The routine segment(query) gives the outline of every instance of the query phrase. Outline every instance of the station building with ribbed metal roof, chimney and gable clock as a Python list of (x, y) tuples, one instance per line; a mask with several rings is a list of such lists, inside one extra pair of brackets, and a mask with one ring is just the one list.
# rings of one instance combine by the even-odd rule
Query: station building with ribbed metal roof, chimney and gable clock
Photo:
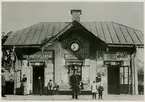
[(40, 22), (10, 34), (3, 47), (15, 46), (15, 93), (23, 74), (28, 94), (36, 93), (38, 76), (44, 94), (50, 79), (60, 91), (68, 91), (76, 70), (82, 91), (90, 91), (90, 84), (101, 75), (106, 94), (138, 94), (136, 60), (144, 47), (143, 33), (115, 22), (81, 22), (81, 13), (71, 10), (72, 22)]

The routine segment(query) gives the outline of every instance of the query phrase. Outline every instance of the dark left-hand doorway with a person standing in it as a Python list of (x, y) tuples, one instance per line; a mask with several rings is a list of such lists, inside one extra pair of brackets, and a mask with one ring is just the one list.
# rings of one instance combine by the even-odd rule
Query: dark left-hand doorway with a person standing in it
[(44, 89), (44, 66), (33, 66), (33, 94), (38, 94), (38, 77), (41, 77)]

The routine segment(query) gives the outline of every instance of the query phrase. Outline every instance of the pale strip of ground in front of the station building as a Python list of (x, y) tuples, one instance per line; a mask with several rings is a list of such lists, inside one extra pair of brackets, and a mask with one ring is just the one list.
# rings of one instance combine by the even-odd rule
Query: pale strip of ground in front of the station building
[[(70, 100), (71, 95), (6, 95), (2, 100)], [(80, 95), (79, 100), (91, 100), (91, 95)], [(98, 99), (96, 99), (98, 100)], [(144, 95), (104, 95), (103, 100), (136, 100), (143, 101)]]

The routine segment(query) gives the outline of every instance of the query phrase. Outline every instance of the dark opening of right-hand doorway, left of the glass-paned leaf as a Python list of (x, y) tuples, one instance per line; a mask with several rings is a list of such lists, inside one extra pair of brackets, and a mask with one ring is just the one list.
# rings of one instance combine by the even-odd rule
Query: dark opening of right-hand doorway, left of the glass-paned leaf
[(119, 66), (108, 67), (108, 93), (119, 94)]

